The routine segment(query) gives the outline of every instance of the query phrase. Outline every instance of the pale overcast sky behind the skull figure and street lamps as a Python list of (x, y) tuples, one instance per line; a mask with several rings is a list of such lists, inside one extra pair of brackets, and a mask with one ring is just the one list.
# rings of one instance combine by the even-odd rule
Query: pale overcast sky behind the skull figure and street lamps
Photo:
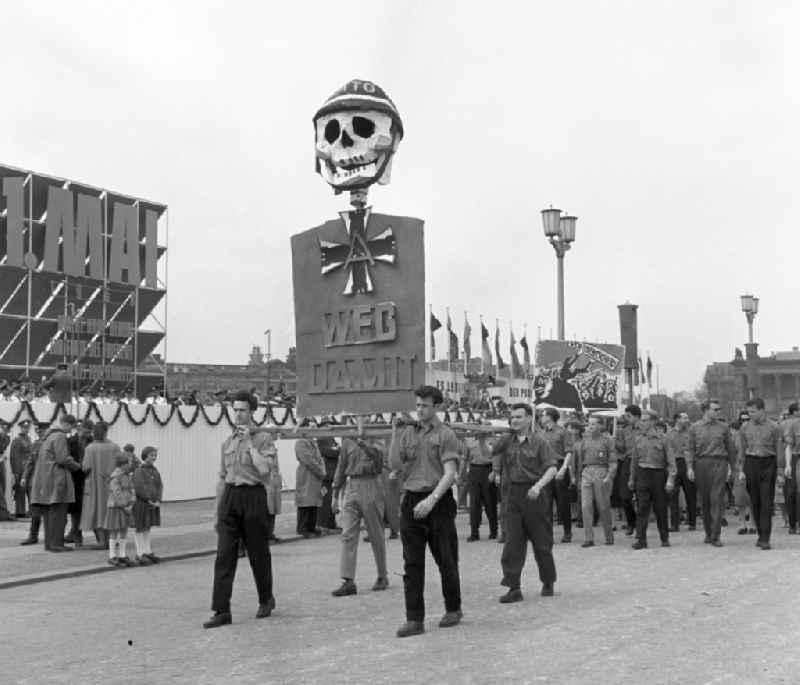
[[(794, 5), (794, 6), (793, 6)], [(0, 162), (170, 208), (168, 356), (293, 344), (289, 238), (346, 207), (311, 117), (351, 78), (405, 139), (375, 211), (425, 220), (427, 291), (556, 329), (540, 210), (576, 214), (568, 337), (639, 341), (662, 388), (746, 339), (800, 344), (800, 7), (791, 2), (98, 2), (2, 5)], [(440, 333), (444, 349), (444, 334)]]

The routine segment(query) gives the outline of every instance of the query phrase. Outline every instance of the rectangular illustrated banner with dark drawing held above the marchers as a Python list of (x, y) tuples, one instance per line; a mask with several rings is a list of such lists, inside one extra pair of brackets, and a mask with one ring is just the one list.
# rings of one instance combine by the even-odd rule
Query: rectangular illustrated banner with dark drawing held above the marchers
[(622, 397), (622, 345), (541, 340), (536, 345), (534, 403), (586, 411), (617, 409)]

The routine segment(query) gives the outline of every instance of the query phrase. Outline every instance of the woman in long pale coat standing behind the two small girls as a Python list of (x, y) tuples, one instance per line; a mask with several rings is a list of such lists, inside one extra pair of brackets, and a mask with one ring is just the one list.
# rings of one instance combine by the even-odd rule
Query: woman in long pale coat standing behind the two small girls
[(81, 530), (92, 530), (97, 538), (98, 549), (108, 549), (108, 533), (105, 530), (108, 507), (108, 487), (111, 474), (116, 468), (117, 454), (122, 450), (107, 439), (108, 424), (98, 421), (92, 428), (93, 442), (83, 455), (83, 471), (86, 482), (83, 491)]

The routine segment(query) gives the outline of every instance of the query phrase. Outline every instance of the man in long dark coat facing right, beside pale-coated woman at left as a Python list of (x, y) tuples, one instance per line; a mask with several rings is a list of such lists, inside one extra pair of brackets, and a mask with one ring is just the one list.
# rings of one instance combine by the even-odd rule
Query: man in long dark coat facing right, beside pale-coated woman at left
[(70, 471), (81, 466), (69, 454), (67, 435), (74, 429), (75, 417), (62, 414), (58, 425), (45, 435), (33, 472), (31, 503), (42, 509), (44, 548), (49, 552), (71, 551), (64, 546), (67, 506), (75, 501), (75, 486)]

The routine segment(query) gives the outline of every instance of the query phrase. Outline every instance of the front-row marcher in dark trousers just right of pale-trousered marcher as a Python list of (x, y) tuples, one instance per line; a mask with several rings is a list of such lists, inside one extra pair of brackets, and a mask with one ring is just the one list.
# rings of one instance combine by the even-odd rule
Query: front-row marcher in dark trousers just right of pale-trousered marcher
[(675, 455), (665, 435), (656, 429), (658, 412), (648, 409), (639, 422), (640, 434), (631, 455), (628, 487), (636, 492), (636, 542), (633, 549), (647, 548), (650, 508), (655, 512), (661, 546), (669, 547), (667, 497), (675, 489)]

